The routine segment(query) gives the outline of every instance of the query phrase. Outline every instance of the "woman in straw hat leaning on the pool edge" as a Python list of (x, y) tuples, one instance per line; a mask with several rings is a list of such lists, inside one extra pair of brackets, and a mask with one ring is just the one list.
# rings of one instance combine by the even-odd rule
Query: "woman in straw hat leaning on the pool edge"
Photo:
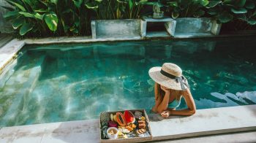
[[(187, 79), (182, 75), (182, 70), (174, 63), (164, 63), (162, 67), (153, 67), (148, 71), (154, 80), (154, 95), (156, 104), (153, 112), (158, 112), (162, 117), (170, 115), (194, 115), (195, 101), (190, 93)], [(187, 109), (176, 110), (183, 97)]]

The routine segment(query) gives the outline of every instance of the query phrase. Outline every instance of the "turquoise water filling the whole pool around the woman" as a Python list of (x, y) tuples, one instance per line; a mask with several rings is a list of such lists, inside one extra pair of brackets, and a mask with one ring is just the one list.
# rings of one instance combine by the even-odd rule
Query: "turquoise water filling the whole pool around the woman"
[(255, 37), (29, 45), (1, 75), (0, 126), (148, 111), (154, 104), (148, 69), (165, 62), (184, 70), (197, 109), (255, 104), (255, 47)]

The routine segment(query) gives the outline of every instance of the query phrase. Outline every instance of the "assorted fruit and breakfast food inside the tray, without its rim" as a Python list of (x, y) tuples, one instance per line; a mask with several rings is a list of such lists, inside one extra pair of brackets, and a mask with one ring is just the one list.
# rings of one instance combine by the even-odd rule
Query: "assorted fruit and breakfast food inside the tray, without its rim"
[[(102, 115), (104, 118), (102, 119)], [(102, 122), (106, 122), (101, 126), (102, 136), (104, 139), (130, 139), (134, 137), (150, 136), (146, 122), (146, 116), (143, 112), (131, 112), (125, 110), (124, 112), (112, 112), (112, 114), (102, 114)], [(105, 131), (103, 130), (105, 128)], [(108, 130), (107, 130), (108, 128)]]

